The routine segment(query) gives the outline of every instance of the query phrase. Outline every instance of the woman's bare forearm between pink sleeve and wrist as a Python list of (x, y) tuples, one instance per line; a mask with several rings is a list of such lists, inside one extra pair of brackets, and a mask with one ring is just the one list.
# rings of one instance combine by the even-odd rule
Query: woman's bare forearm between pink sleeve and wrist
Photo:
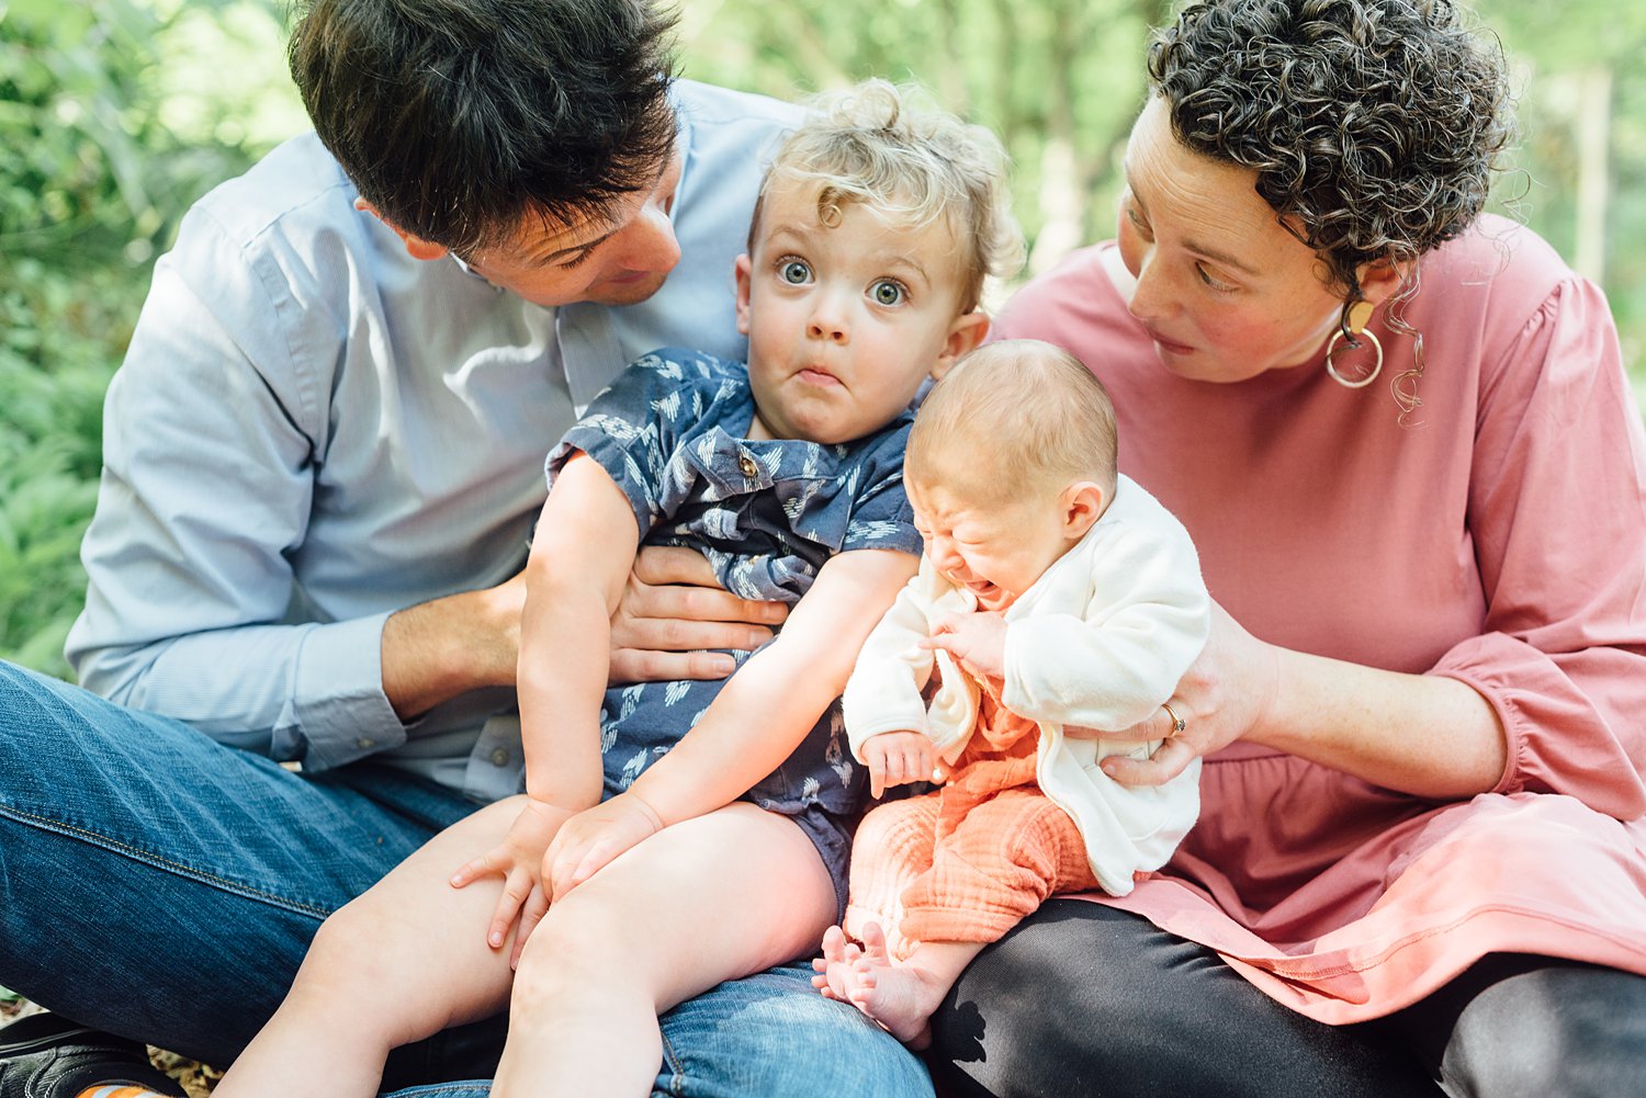
[(1246, 739), (1419, 797), (1472, 797), (1503, 777), (1503, 724), (1467, 683), (1274, 652), (1274, 696)]

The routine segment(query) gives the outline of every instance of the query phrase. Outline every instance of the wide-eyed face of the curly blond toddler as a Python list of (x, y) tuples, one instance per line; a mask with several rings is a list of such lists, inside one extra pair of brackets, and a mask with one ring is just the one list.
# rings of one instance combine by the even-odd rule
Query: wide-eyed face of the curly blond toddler
[(846, 443), (890, 423), (981, 336), (960, 314), (961, 249), (946, 224), (889, 224), (861, 202), (818, 221), (815, 186), (774, 186), (737, 260), (749, 336), (751, 438)]

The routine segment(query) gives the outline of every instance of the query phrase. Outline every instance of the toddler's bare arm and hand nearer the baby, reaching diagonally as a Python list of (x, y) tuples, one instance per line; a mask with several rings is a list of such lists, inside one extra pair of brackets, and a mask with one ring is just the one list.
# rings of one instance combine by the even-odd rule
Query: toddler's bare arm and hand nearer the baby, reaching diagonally
[(864, 639), (914, 571), (914, 556), (889, 550), (831, 556), (777, 640), (731, 677), (696, 728), (627, 792), (561, 828), (548, 859), (553, 896), (775, 770), (839, 696)]

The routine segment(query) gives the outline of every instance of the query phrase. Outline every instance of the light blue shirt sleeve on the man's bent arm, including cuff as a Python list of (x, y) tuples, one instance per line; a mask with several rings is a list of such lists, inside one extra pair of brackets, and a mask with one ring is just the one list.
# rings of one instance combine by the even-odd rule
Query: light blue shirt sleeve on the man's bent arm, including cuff
[(291, 369), (270, 286), (204, 214), (191, 219), (105, 400), (67, 657), (114, 701), (309, 769), (398, 746), (387, 614), (281, 624), (321, 395)]

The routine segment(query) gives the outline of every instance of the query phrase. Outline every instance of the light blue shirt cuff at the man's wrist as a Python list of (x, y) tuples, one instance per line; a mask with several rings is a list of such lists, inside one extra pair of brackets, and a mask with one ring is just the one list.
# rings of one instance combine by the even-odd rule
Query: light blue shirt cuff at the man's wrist
[(308, 630), (298, 650), (296, 721), (275, 729), (277, 759), (326, 770), (405, 742), (405, 724), (384, 693), (387, 621), (374, 614)]

